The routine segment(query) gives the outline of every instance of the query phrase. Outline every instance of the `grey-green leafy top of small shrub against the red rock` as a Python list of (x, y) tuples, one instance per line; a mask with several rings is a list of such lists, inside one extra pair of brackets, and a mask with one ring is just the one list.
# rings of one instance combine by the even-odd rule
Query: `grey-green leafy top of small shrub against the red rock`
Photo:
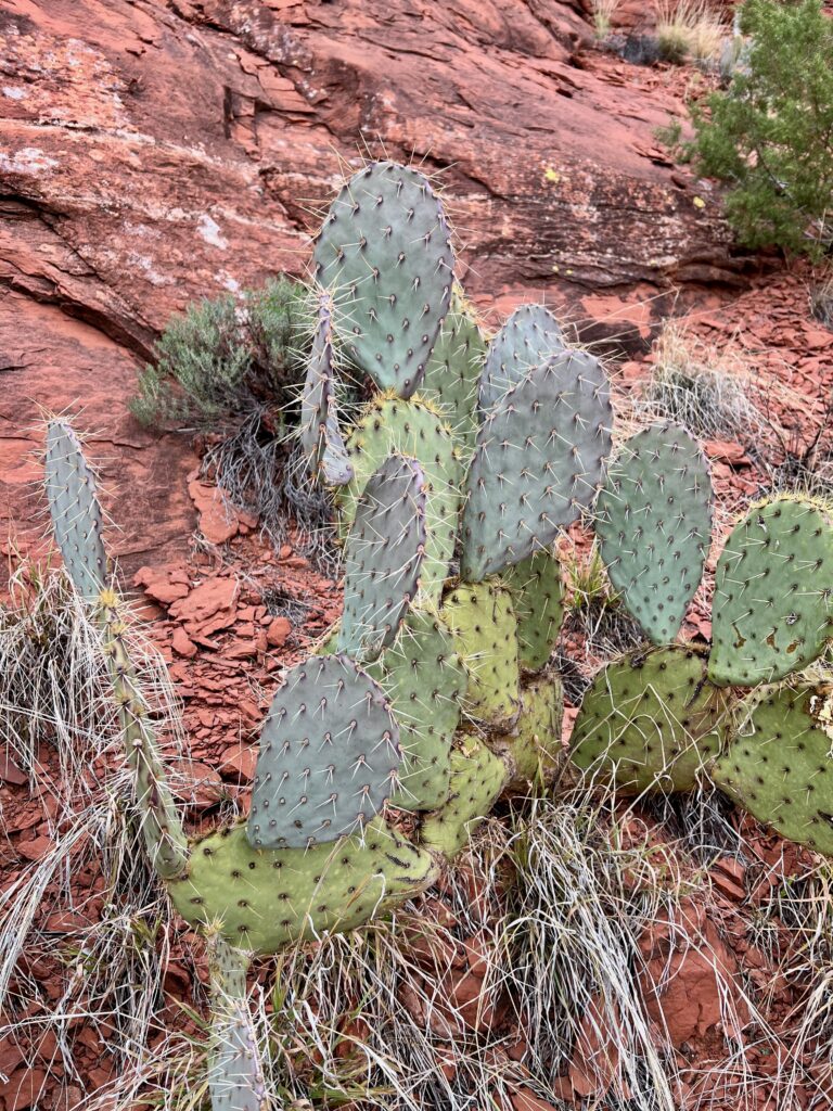
[(247, 294), (225, 294), (174, 317), (139, 378), (130, 411), (142, 424), (212, 428), (269, 400), (291, 399), (303, 373), (307, 290), (289, 278)]

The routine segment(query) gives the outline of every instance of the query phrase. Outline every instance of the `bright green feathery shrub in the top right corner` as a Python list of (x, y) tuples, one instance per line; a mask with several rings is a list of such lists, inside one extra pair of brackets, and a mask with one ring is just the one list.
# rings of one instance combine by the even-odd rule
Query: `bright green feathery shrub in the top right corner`
[[(701, 172), (731, 182), (726, 216), (746, 247), (822, 253), (833, 198), (833, 20), (821, 0), (746, 0), (747, 64), (695, 110)], [(826, 239), (826, 244), (825, 244)]]

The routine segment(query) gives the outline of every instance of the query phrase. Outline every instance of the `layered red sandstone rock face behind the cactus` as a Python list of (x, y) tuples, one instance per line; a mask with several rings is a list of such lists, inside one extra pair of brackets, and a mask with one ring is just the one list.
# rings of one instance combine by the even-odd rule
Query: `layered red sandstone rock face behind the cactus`
[[(0, 12), (0, 543), (39, 529), (39, 407), (78, 413), (128, 570), (188, 542), (182, 437), (127, 412), (170, 316), (301, 273), (369, 152), (436, 172), (462, 277), (574, 318), (735, 283), (715, 198), (656, 150), (682, 106), (556, 0), (10, 0)], [(659, 297), (659, 300), (658, 300)]]

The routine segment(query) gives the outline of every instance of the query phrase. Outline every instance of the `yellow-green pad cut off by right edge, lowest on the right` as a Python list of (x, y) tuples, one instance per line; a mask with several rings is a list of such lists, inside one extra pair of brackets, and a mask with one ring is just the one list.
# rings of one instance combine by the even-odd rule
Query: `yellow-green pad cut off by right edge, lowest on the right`
[(825, 697), (801, 687), (753, 698), (712, 778), (782, 837), (833, 857), (833, 737), (817, 719)]

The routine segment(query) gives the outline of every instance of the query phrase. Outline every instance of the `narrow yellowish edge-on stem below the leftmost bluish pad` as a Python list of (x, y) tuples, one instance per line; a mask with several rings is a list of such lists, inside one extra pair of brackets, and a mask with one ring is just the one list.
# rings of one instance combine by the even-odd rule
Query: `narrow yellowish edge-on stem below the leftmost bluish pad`
[(159, 755), (148, 704), (139, 689), (136, 669), (124, 643), (126, 627), (114, 590), (99, 594), (98, 621), (104, 634), (113, 695), (124, 751), (133, 771), (136, 800), (142, 815), (148, 855), (163, 880), (181, 875), (188, 863), (188, 839)]

